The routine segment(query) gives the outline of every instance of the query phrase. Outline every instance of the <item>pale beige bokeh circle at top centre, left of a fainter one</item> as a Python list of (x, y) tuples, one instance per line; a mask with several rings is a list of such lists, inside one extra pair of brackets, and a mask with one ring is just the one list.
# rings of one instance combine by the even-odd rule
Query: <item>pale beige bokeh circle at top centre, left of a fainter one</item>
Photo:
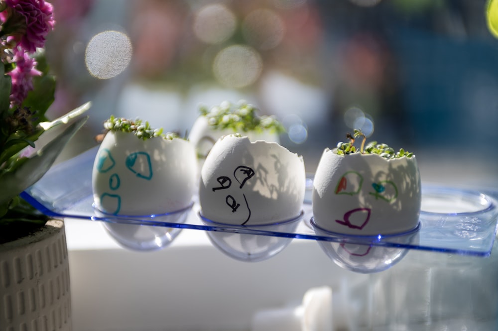
[(208, 4), (194, 18), (194, 33), (201, 41), (219, 44), (230, 38), (235, 31), (237, 19), (235, 14), (220, 3)]

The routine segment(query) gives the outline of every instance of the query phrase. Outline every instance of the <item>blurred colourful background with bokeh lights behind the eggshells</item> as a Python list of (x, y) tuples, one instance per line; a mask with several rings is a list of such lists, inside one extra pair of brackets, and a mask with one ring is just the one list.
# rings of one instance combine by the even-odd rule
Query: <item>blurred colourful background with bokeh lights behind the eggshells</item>
[(353, 128), (417, 155), (422, 180), (498, 184), (498, 39), (486, 0), (53, 0), (53, 117), (92, 101), (188, 132), (199, 105), (274, 114), (313, 173)]

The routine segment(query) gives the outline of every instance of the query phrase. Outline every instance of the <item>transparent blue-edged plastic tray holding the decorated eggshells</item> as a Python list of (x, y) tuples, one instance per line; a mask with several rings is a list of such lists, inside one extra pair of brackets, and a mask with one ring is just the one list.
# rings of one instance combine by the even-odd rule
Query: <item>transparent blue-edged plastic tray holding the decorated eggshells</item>
[(175, 217), (177, 213), (144, 217), (103, 215), (93, 208), (92, 167), (96, 153), (97, 147), (52, 167), (40, 181), (23, 192), (22, 197), (42, 213), (54, 218), (357, 243), (475, 256), (488, 256), (496, 236), (498, 192), (424, 183), (420, 222), (414, 230), (416, 236), (413, 231), (403, 235), (345, 236), (316, 229), (312, 225), (310, 201), (312, 179), (308, 179), (303, 214), (289, 221), (292, 226), (288, 227), (219, 224), (203, 219), (196, 201), (187, 210), (178, 211), (182, 215), (186, 214), (183, 218)]

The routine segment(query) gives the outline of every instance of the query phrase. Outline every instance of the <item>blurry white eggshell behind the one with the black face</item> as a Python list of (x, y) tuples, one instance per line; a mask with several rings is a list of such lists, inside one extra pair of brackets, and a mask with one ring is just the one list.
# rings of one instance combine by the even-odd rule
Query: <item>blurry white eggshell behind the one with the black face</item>
[[(216, 143), (216, 141), (226, 135), (237, 133), (233, 129), (214, 129), (208, 123), (206, 116), (197, 117), (192, 129), (189, 133), (189, 141), (195, 146), (197, 151), (197, 156), (199, 157), (198, 169), (202, 169), (202, 165), (206, 156), (209, 154), (211, 148)], [(250, 141), (264, 140), (268, 142), (279, 143), (278, 134), (272, 132), (271, 130), (263, 131), (248, 131), (248, 132), (238, 132), (241, 135), (248, 136)]]

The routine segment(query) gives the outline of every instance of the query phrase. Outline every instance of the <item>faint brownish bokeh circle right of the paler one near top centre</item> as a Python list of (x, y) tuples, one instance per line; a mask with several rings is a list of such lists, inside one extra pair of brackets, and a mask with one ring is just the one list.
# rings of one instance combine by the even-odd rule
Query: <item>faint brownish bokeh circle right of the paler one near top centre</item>
[(261, 50), (278, 46), (285, 31), (280, 16), (270, 9), (251, 11), (244, 19), (242, 28), (248, 43)]

